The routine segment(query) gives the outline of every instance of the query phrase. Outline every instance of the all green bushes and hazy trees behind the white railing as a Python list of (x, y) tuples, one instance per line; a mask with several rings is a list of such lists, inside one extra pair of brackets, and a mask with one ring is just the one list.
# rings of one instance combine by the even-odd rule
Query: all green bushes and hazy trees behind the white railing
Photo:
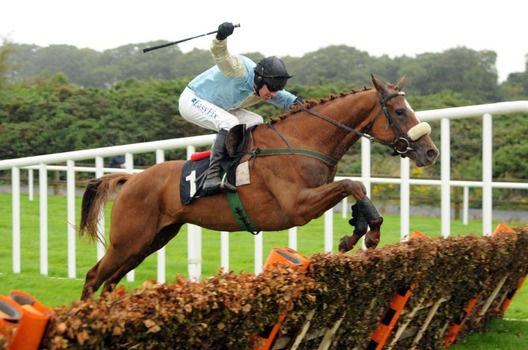
[[(141, 48), (159, 44), (130, 44), (98, 52), (73, 46), (4, 42), (0, 46), (0, 159), (65, 152), (210, 133), (184, 121), (178, 98), (188, 81), (213, 64), (208, 51), (182, 53), (178, 47), (143, 54)], [(247, 53), (254, 60), (260, 53)], [(374, 57), (347, 46), (329, 46), (303, 57), (284, 57), (294, 78), (288, 89), (305, 98), (322, 98), (370, 86), (369, 76), (395, 82), (406, 75), (409, 102), (415, 110), (528, 99), (528, 69), (498, 83), (496, 54), (464, 47), (416, 57)], [(527, 64), (528, 66), (528, 64)], [(269, 104), (253, 108), (266, 118), (280, 110)], [(439, 124), (433, 123), (439, 142)], [(478, 119), (451, 122), (452, 178), (481, 178), (481, 123)], [(494, 116), (495, 180), (526, 180), (528, 153), (526, 115)], [(359, 174), (359, 145), (339, 164), (343, 175)], [(373, 146), (373, 176), (397, 176), (399, 160)], [(172, 152), (168, 159), (181, 158)], [(152, 157), (150, 157), (152, 158)], [(153, 163), (148, 155), (136, 166)], [(440, 167), (412, 168), (413, 177), (439, 176)], [(374, 191), (387, 195), (391, 186)], [(453, 190), (458, 198), (458, 189)], [(438, 194), (424, 190), (415, 200)], [(421, 195), (421, 196), (420, 196)], [(526, 191), (500, 190), (496, 203), (507, 199), (528, 208)]]

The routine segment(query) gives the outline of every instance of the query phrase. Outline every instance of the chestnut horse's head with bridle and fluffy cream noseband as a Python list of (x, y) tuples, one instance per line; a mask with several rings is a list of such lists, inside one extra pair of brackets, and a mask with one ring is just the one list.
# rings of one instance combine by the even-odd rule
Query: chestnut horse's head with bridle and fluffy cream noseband
[(371, 127), (372, 137), (390, 146), (394, 155), (409, 157), (417, 166), (433, 164), (438, 157), (438, 148), (431, 140), (431, 127), (420, 122), (402, 88), (405, 78), (398, 84), (386, 84), (374, 76), (372, 83), (378, 91), (383, 115), (378, 115)]

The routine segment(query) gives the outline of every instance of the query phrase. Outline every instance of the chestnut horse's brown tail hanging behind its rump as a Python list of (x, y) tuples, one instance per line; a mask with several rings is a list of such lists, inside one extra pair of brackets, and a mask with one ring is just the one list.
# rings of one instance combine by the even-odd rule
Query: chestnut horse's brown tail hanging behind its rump
[(92, 239), (97, 239), (97, 222), (99, 212), (104, 204), (116, 190), (117, 186), (124, 184), (132, 174), (109, 174), (88, 182), (84, 191), (81, 209), (81, 224), (79, 234), (87, 234)]

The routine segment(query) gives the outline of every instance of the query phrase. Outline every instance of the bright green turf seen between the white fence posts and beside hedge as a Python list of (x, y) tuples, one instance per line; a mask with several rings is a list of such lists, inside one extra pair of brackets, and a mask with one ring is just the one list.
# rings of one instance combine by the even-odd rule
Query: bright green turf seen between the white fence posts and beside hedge
[[(108, 206), (109, 207), (109, 206)], [(78, 198), (77, 208), (80, 208)], [(105, 224), (110, 221), (109, 209), (106, 210)], [(12, 272), (12, 236), (11, 236), (11, 195), (0, 194), (0, 294), (21, 289), (49, 306), (70, 304), (79, 298), (86, 271), (96, 263), (95, 244), (87, 239), (76, 242), (76, 279), (67, 277), (67, 224), (66, 199), (64, 196), (48, 197), (48, 276), (42, 276), (39, 268), (39, 202), (38, 197), (29, 201), (21, 196), (21, 269), (22, 273)], [(399, 241), (399, 216), (384, 215), (381, 245)], [(77, 221), (79, 216), (77, 214)], [(495, 225), (498, 223), (494, 223)], [(519, 226), (526, 223), (508, 223)], [(438, 237), (440, 219), (434, 217), (412, 217), (411, 230), (422, 231), (432, 237)], [(350, 234), (352, 228), (341, 214), (334, 216), (334, 250), (339, 238)], [(309, 225), (298, 228), (298, 251), (310, 256), (324, 250), (324, 219), (319, 218)], [(481, 235), (481, 221), (471, 221), (467, 226), (460, 221), (451, 224), (453, 235)], [(247, 232), (234, 232), (229, 236), (230, 270), (235, 272), (253, 272), (253, 236)], [(274, 247), (287, 246), (287, 231), (264, 233), (264, 259)], [(357, 249), (357, 248), (356, 248)], [(167, 281), (176, 276), (187, 275), (187, 228), (166, 246)], [(156, 254), (147, 258), (135, 270), (135, 282), (122, 281), (127, 289), (133, 289), (146, 279), (156, 277)], [(220, 267), (220, 234), (209, 230), (202, 233), (202, 276), (210, 276)], [(454, 349), (528, 349), (528, 291), (521, 289), (508, 309), (505, 319), (490, 322), (485, 333), (472, 334)], [(514, 320), (508, 320), (514, 319)], [(511, 339), (505, 340), (505, 338)], [(503, 344), (507, 342), (507, 344)], [(524, 347), (523, 347), (524, 346)]]

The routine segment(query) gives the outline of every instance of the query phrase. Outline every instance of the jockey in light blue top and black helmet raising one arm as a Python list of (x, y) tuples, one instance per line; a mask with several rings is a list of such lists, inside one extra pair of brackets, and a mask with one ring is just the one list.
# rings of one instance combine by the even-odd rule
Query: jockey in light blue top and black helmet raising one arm
[(263, 123), (260, 115), (246, 107), (266, 101), (286, 110), (303, 102), (301, 97), (284, 90), (292, 76), (279, 58), (267, 57), (255, 65), (245, 56), (228, 52), (226, 38), (233, 30), (234, 25), (229, 22), (218, 26), (211, 44), (216, 65), (194, 78), (179, 100), (180, 114), (185, 120), (218, 132), (203, 186), (206, 194), (220, 189), (236, 191), (235, 186), (220, 178), (220, 161), (227, 153), (224, 141), (229, 129), (237, 124), (250, 127)]

